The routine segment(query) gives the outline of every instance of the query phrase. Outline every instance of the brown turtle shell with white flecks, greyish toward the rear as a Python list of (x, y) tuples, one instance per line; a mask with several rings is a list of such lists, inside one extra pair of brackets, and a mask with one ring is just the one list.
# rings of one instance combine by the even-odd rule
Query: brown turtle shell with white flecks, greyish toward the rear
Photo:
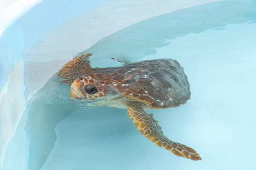
[(190, 99), (188, 78), (183, 67), (173, 59), (91, 68), (86, 74), (105, 86), (118, 89), (126, 98), (147, 104), (152, 109), (177, 107)]

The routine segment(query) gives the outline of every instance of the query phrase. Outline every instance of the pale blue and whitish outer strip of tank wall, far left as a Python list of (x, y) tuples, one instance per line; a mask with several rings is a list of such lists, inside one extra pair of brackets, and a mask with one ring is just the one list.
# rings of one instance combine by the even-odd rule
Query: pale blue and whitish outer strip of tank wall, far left
[[(100, 2), (102, 1), (89, 0), (71, 3), (66, 0), (58, 4), (58, 2), (45, 0), (13, 21), (2, 33), (0, 37), (1, 166), (6, 145), (16, 129), (18, 119), (26, 106), (24, 95), (26, 88), (26, 84), (24, 84), (24, 53), (50, 29), (79, 12), (96, 6)], [(18, 5), (21, 4), (18, 3)], [(59, 9), (58, 12), (56, 12), (56, 9)], [(33, 71), (37, 72), (36, 70)], [(46, 73), (46, 76), (50, 77), (51, 75)]]

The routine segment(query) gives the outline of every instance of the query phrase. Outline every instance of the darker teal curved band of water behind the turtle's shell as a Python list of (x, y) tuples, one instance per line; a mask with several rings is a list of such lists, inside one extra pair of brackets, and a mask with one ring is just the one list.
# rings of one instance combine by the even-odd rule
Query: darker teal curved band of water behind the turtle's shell
[(155, 54), (157, 48), (170, 45), (171, 40), (178, 37), (208, 29), (225, 29), (226, 25), (233, 23), (253, 23), (256, 21), (255, 6), (253, 0), (238, 0), (177, 10), (126, 27), (78, 55), (93, 53), (92, 62), (96, 66), (106, 66), (104, 62), (97, 62), (99, 58), (108, 60), (114, 57), (122, 60), (122, 57), (126, 57), (138, 61), (144, 56)]

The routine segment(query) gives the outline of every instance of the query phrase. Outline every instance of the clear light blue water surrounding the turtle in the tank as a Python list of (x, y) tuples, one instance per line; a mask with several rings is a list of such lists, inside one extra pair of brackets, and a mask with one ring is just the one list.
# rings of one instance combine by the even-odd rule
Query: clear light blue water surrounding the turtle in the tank
[(6, 160), (15, 155), (20, 167), (31, 170), (256, 169), (255, 7), (248, 0), (178, 10), (126, 27), (83, 52), (94, 54), (92, 66), (119, 64), (110, 57), (179, 61), (191, 99), (149, 112), (167, 137), (197, 150), (201, 161), (157, 147), (140, 135), (125, 109), (80, 106), (56, 75), (30, 100)]

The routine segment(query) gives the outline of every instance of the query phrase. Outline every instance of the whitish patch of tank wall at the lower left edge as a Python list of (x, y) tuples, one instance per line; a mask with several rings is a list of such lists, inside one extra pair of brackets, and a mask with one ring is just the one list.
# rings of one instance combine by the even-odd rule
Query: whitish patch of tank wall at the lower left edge
[[(0, 167), (3, 169), (4, 156), (6, 147), (16, 131), (20, 117), (26, 108), (26, 102), (24, 97), (25, 85), (24, 85), (24, 63), (22, 60), (12, 68), (4, 86), (0, 90), (0, 119), (3, 121), (0, 123), (0, 129), (5, 129), (2, 132), (3, 143), (0, 150)], [(16, 76), (19, 75), (19, 76)], [(18, 79), (17, 79), (18, 77)], [(10, 108), (8, 105), (10, 102), (15, 101), (16, 107)], [(15, 112), (16, 114), (11, 114)], [(12, 123), (9, 123), (12, 122)]]

